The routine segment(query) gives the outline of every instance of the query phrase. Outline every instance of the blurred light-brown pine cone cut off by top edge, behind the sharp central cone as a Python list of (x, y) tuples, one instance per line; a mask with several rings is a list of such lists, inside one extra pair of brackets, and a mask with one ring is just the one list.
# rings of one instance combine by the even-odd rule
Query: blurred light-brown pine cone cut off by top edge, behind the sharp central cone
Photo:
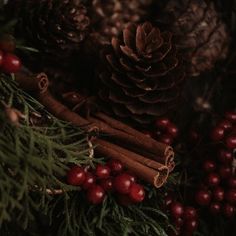
[(101, 44), (109, 43), (129, 22), (142, 21), (151, 1), (92, 0), (90, 15), (95, 29), (92, 36)]

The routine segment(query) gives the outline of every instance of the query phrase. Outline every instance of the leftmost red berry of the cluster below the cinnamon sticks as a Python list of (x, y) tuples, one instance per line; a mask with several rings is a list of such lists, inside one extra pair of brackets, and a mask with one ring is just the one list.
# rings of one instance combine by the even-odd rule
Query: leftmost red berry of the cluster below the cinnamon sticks
[(84, 169), (80, 166), (72, 167), (67, 173), (67, 183), (70, 185), (80, 186), (85, 181)]

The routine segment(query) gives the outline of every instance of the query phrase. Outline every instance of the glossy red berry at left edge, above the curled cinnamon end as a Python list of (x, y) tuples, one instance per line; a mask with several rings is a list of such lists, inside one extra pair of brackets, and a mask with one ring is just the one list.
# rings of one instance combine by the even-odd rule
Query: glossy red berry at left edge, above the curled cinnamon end
[(14, 54), (7, 53), (3, 57), (1, 69), (5, 73), (16, 73), (21, 68), (20, 59)]

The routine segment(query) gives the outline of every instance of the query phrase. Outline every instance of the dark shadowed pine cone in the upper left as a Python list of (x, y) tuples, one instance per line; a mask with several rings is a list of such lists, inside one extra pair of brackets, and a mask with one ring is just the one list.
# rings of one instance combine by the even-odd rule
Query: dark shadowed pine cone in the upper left
[(9, 0), (19, 35), (51, 58), (69, 56), (88, 34), (90, 19), (79, 0)]

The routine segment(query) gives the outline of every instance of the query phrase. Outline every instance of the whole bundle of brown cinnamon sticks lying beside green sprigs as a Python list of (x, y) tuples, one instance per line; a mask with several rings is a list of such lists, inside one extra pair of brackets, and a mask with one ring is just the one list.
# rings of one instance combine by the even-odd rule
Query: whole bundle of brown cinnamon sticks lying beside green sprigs
[(49, 92), (47, 75), (16, 74), (20, 87), (31, 92), (45, 108), (59, 119), (80, 126), (86, 132), (99, 130), (92, 139), (95, 153), (121, 161), (127, 169), (141, 179), (161, 187), (174, 169), (173, 149), (146, 136), (130, 126), (97, 112), (84, 118), (56, 100)]

